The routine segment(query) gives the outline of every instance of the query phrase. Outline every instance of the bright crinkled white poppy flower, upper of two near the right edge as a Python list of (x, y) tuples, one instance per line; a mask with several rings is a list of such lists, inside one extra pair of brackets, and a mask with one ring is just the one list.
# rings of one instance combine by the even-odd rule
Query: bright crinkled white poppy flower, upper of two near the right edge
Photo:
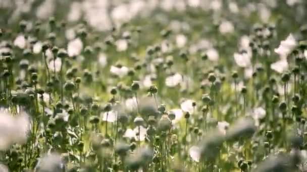
[(276, 48), (274, 51), (279, 54), (281, 58), (287, 58), (287, 56), (296, 47), (296, 45), (297, 42), (295, 38), (292, 34), (289, 34), (286, 40), (281, 41), (279, 47)]

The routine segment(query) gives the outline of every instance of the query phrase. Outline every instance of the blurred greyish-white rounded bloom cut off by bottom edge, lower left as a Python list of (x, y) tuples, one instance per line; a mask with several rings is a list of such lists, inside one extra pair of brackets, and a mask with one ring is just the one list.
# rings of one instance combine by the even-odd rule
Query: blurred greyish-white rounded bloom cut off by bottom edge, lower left
[(54, 171), (64, 171), (65, 164), (62, 161), (62, 157), (57, 153), (48, 153), (43, 157), (40, 157), (36, 166), (36, 172), (54, 172)]

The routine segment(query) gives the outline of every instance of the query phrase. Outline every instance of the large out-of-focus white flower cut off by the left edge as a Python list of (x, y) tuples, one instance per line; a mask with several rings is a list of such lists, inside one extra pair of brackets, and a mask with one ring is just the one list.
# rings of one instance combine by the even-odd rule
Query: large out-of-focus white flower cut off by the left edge
[(6, 111), (0, 111), (0, 150), (6, 150), (15, 143), (25, 143), (30, 125), (25, 112), (13, 117)]

